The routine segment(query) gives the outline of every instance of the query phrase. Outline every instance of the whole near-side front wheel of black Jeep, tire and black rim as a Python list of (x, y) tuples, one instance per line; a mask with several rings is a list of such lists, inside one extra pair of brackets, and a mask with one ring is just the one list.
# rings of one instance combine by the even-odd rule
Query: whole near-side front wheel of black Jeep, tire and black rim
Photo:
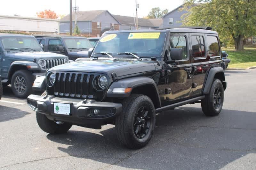
[(116, 118), (116, 132), (120, 144), (139, 149), (150, 141), (156, 123), (152, 100), (142, 94), (132, 94), (123, 102), (123, 112)]

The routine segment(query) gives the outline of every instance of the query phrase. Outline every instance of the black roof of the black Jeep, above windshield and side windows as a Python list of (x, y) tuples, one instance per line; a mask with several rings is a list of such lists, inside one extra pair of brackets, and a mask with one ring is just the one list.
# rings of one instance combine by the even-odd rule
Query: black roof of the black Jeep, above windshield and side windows
[(218, 34), (216, 31), (196, 28), (171, 28), (171, 29), (151, 29), (151, 30), (121, 30), (121, 31), (106, 31), (106, 33), (211, 33)]

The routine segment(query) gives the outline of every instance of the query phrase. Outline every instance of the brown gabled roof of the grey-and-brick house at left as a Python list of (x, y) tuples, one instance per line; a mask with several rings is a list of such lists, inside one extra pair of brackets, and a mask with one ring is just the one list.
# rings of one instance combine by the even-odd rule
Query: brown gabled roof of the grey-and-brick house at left
[[(76, 14), (76, 21), (93, 21), (95, 18), (97, 18), (103, 12), (108, 12), (108, 10), (79, 11)], [(111, 15), (110, 12), (108, 12), (108, 13)], [(72, 21), (74, 21), (74, 20), (75, 20), (75, 15), (72, 14)], [(69, 21), (69, 14), (60, 19), (60, 22), (68, 22), (68, 21)]]

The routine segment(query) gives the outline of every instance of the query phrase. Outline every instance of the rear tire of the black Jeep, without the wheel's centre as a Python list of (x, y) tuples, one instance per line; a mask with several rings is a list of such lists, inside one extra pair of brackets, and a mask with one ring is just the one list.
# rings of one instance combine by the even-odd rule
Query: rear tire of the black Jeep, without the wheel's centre
[[(220, 88), (221, 92), (221, 104), (218, 108), (214, 107), (214, 92), (216, 88)], [(214, 79), (212, 82), (212, 87), (210, 89), (209, 94), (205, 95), (205, 98), (201, 100), (201, 107), (206, 116), (217, 116), (220, 114), (220, 111), (223, 106), (224, 101), (224, 88), (220, 81), (220, 79)]]

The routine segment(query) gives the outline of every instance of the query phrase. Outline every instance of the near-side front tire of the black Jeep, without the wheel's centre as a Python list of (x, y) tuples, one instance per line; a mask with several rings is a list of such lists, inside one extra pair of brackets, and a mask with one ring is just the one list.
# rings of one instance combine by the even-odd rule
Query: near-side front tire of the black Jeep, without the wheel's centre
[[(122, 106), (123, 112), (116, 117), (115, 123), (117, 138), (120, 144), (131, 149), (139, 149), (146, 146), (153, 135), (156, 123), (155, 107), (152, 100), (146, 95), (132, 94), (124, 100)], [(148, 133), (146, 133), (144, 138), (138, 138), (134, 131), (134, 119), (141, 106), (147, 107), (152, 118), (152, 120), (150, 118), (152, 124), (150, 124)]]

